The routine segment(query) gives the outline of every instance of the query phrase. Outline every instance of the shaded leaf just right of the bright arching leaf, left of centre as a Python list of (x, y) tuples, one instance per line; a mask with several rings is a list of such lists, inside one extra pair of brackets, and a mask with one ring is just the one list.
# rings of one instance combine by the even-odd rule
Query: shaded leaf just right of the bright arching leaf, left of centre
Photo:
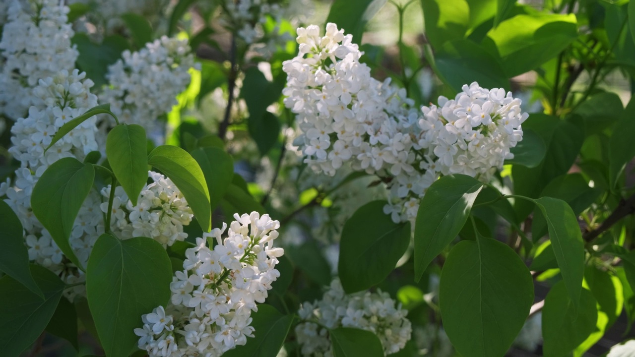
[(199, 163), (201, 170), (203, 170), (208, 191), (210, 191), (211, 209), (214, 210), (225, 196), (227, 187), (232, 183), (234, 160), (223, 149), (216, 147), (196, 149), (192, 151), (192, 158)]

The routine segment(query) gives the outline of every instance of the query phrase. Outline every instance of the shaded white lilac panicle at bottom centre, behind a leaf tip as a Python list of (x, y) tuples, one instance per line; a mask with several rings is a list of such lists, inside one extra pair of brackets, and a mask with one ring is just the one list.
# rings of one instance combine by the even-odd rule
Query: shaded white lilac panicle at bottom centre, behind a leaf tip
[(295, 328), (304, 356), (333, 356), (326, 328), (353, 327), (373, 332), (382, 342), (385, 354), (402, 349), (412, 333), (406, 318), (408, 311), (396, 306), (388, 293), (378, 290), (346, 295), (337, 279), (331, 282), (322, 300), (304, 302), (298, 314), (307, 321)]

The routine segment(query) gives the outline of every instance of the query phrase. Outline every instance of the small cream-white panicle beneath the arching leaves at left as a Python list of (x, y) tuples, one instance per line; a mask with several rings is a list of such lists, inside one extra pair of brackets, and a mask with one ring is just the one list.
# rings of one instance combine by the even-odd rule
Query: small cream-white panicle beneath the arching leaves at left
[[(164, 247), (183, 241), (183, 226), (192, 221), (192, 209), (177, 186), (160, 173), (148, 172), (151, 184), (145, 185), (133, 206), (123, 187), (117, 186), (111, 213), (111, 229), (122, 239), (149, 237)], [(102, 189), (101, 212), (108, 212), (110, 185)]]

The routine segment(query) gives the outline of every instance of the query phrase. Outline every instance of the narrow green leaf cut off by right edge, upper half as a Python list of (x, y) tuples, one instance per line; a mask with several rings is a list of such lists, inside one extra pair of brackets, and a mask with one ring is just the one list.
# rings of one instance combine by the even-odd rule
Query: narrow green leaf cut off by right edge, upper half
[(635, 145), (632, 138), (635, 135), (635, 97), (626, 106), (624, 115), (615, 124), (615, 129), (608, 142), (610, 187), (617, 185), (618, 178), (624, 172), (627, 163), (635, 156)]

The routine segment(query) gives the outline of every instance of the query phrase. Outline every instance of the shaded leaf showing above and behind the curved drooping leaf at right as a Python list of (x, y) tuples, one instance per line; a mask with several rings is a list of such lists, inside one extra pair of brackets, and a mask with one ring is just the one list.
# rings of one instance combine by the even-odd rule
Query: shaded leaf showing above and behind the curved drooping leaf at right
[[(587, 181), (580, 173), (570, 173), (553, 179), (547, 187), (542, 190), (541, 197), (558, 198), (565, 201), (573, 210), (577, 217), (591, 203), (598, 198), (599, 191), (589, 187)], [(539, 209), (534, 210), (533, 222), (531, 222), (531, 232), (534, 241), (547, 234), (547, 222)]]

